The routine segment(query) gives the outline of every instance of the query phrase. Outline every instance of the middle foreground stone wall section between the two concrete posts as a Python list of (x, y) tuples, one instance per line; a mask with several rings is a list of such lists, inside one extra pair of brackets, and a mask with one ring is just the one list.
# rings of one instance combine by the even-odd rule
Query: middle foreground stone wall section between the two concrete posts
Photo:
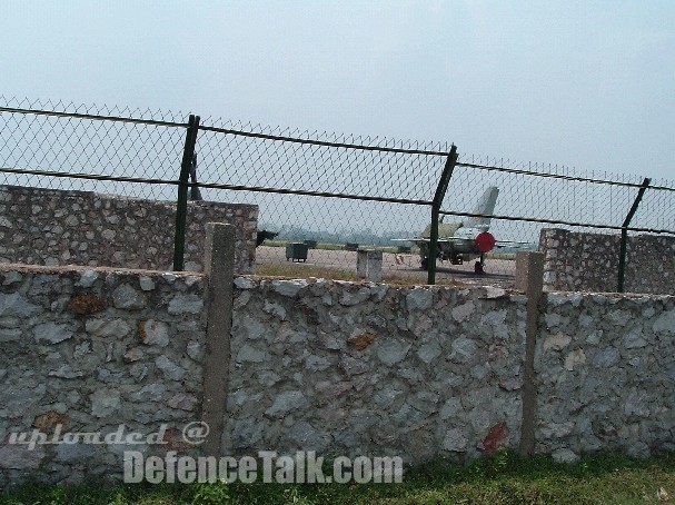
[(474, 458), (517, 448), (525, 297), (237, 278), (225, 449)]

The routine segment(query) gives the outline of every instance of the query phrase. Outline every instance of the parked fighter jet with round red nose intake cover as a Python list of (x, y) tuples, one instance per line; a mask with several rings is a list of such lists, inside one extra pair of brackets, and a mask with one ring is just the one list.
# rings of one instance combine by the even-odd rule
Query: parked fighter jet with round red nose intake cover
[[(476, 274), (484, 273), (485, 255), (495, 247), (523, 247), (528, 242), (514, 242), (497, 240), (488, 231), (490, 218), (495, 210), (499, 188), (492, 186), (485, 190), (476, 208), (471, 214), (479, 217), (467, 217), (459, 222), (438, 222), (438, 259), (449, 260), (453, 265), (461, 265), (464, 261), (478, 258), (474, 265)], [(445, 217), (445, 216), (444, 216)], [(396, 239), (411, 241), (419, 247), (420, 265), (423, 269), (429, 267), (429, 237), (431, 225), (427, 226), (421, 234), (411, 239)]]

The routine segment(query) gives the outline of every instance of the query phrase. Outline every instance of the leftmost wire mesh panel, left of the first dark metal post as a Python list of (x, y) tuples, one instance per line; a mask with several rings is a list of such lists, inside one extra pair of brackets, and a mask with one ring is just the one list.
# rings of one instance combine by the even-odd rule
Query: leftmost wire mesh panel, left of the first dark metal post
[(175, 199), (185, 139), (176, 115), (2, 100), (0, 184)]

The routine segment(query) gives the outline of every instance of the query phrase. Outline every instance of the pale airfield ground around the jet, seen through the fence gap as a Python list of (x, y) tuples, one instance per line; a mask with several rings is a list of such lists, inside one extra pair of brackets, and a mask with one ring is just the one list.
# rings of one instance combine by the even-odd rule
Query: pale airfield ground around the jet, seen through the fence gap
[[(474, 263), (450, 265), (448, 261), (438, 261), (436, 267), (437, 284), (467, 284), (474, 286), (497, 286), (513, 288), (515, 285), (516, 261), (508, 259), (490, 259), (485, 263), (485, 274), (474, 273)], [(307, 261), (286, 260), (285, 247), (259, 246), (256, 249), (256, 264), (275, 264), (289, 267), (289, 276), (301, 275), (302, 268), (319, 267), (335, 269), (336, 271), (356, 273), (356, 251), (310, 249)], [(406, 278), (411, 283), (426, 284), (427, 273), (419, 268), (418, 255), (395, 255), (383, 253), (383, 277), (387, 281), (396, 278)]]

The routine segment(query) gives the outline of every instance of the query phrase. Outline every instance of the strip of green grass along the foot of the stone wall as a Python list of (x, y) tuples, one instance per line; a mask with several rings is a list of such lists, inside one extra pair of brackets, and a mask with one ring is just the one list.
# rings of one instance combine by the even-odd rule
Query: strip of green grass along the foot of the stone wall
[[(403, 484), (190, 484), (47, 486), (0, 494), (2, 504), (645, 504), (675, 495), (675, 456), (633, 459), (596, 454), (574, 465), (509, 453), (466, 466), (409, 469)], [(674, 499), (675, 496), (672, 499)]]

